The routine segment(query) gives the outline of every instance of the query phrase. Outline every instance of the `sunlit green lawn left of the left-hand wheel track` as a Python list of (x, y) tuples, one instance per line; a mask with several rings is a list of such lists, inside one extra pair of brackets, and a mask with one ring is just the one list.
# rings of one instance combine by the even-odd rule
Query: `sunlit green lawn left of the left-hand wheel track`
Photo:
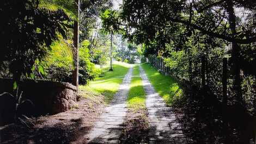
[(103, 68), (101, 77), (96, 78), (87, 86), (80, 86), (80, 89), (101, 93), (105, 98), (104, 101), (108, 104), (113, 98), (115, 92), (118, 91), (120, 83), (123, 81), (125, 74), (128, 72), (130, 64), (124, 62), (114, 62), (113, 70), (108, 71), (109, 67)]

